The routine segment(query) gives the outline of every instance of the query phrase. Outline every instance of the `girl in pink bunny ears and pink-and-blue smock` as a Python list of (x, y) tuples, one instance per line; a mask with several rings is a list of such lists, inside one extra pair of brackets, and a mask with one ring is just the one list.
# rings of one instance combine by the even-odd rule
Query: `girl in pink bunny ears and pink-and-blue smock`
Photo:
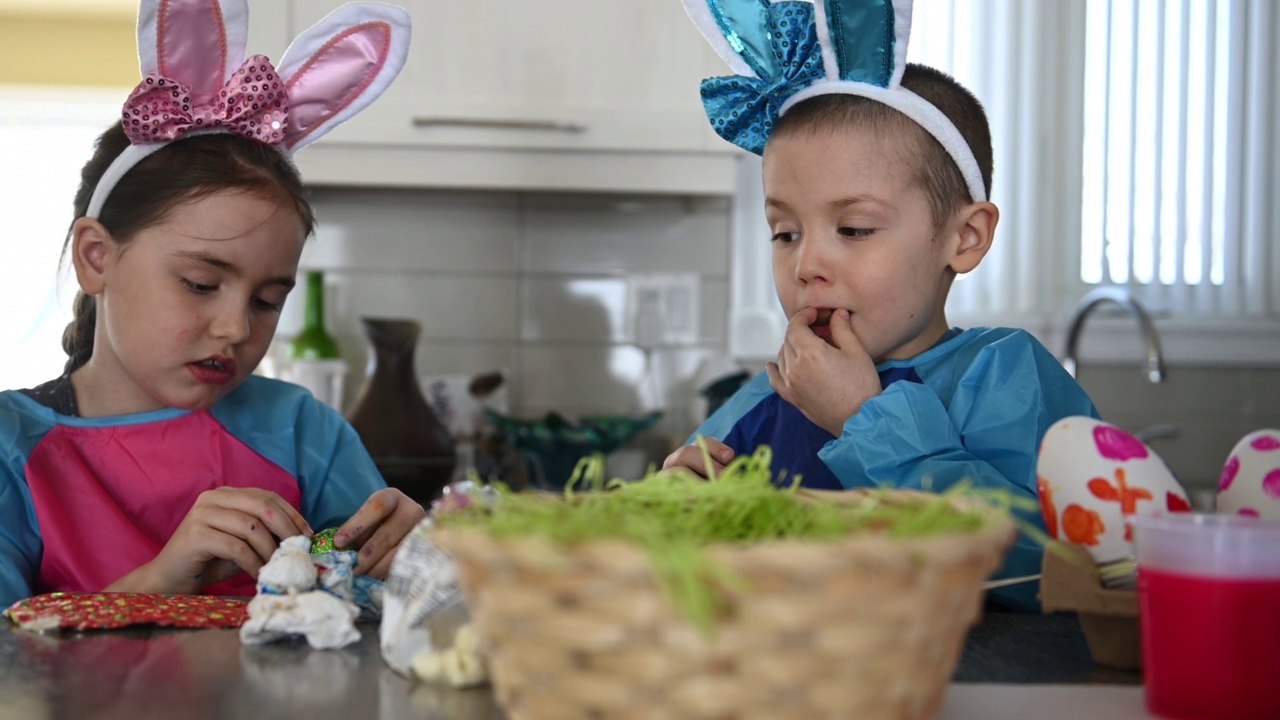
[[(355, 100), (301, 96), (317, 83), (291, 96), (317, 65), (291, 63), (294, 46), (285, 77), (266, 58), (241, 64), (243, 0), (143, 1), (146, 79), (84, 167), (64, 250), (81, 286), (67, 366), (0, 393), (0, 606), (51, 591), (253, 594), (279, 539), (333, 525), (357, 570), (383, 577), (425, 516), (342, 416), (252, 375), (314, 225), (289, 154), (381, 92), (407, 47), (402, 10), (339, 13), (294, 46), (317, 59), (367, 45), (360, 33), (397, 40), (355, 64), (335, 53), (326, 72)], [(210, 28), (232, 46), (202, 44)], [(182, 55), (193, 47), (221, 55), (201, 65)]]

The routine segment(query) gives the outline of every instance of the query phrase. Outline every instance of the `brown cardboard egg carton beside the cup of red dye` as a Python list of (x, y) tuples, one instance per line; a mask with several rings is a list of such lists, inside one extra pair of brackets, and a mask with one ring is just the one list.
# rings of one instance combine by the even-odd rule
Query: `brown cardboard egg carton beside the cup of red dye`
[(1098, 665), (1142, 667), (1138, 591), (1102, 584), (1098, 565), (1080, 544), (1053, 542), (1044, 550), (1041, 606), (1044, 612), (1075, 612)]

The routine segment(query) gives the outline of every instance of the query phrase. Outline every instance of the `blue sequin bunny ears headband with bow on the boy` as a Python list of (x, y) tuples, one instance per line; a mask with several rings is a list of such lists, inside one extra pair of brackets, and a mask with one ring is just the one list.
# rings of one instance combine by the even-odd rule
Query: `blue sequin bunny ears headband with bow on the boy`
[(764, 151), (773, 124), (796, 102), (846, 94), (915, 120), (942, 145), (975, 202), (987, 200), (973, 149), (933, 104), (902, 87), (911, 0), (684, 0), (685, 10), (736, 73), (703, 81), (716, 132)]

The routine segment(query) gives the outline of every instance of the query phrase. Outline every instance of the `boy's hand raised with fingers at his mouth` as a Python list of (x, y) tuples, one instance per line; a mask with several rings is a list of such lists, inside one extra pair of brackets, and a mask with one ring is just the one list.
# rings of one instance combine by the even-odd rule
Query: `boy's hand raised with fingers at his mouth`
[(778, 360), (767, 364), (773, 391), (805, 418), (840, 437), (845, 420), (881, 393), (879, 375), (854, 333), (849, 310), (831, 315), (831, 345), (814, 334), (817, 307), (805, 307), (787, 323)]

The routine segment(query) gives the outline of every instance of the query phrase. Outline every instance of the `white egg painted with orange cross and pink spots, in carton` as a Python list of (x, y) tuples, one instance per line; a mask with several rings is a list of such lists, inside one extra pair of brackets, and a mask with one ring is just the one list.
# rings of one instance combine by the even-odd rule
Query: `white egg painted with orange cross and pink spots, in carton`
[(1041, 441), (1036, 474), (1050, 537), (1084, 546), (1098, 562), (1133, 555), (1130, 515), (1192, 509), (1158, 455), (1093, 418), (1053, 423)]

